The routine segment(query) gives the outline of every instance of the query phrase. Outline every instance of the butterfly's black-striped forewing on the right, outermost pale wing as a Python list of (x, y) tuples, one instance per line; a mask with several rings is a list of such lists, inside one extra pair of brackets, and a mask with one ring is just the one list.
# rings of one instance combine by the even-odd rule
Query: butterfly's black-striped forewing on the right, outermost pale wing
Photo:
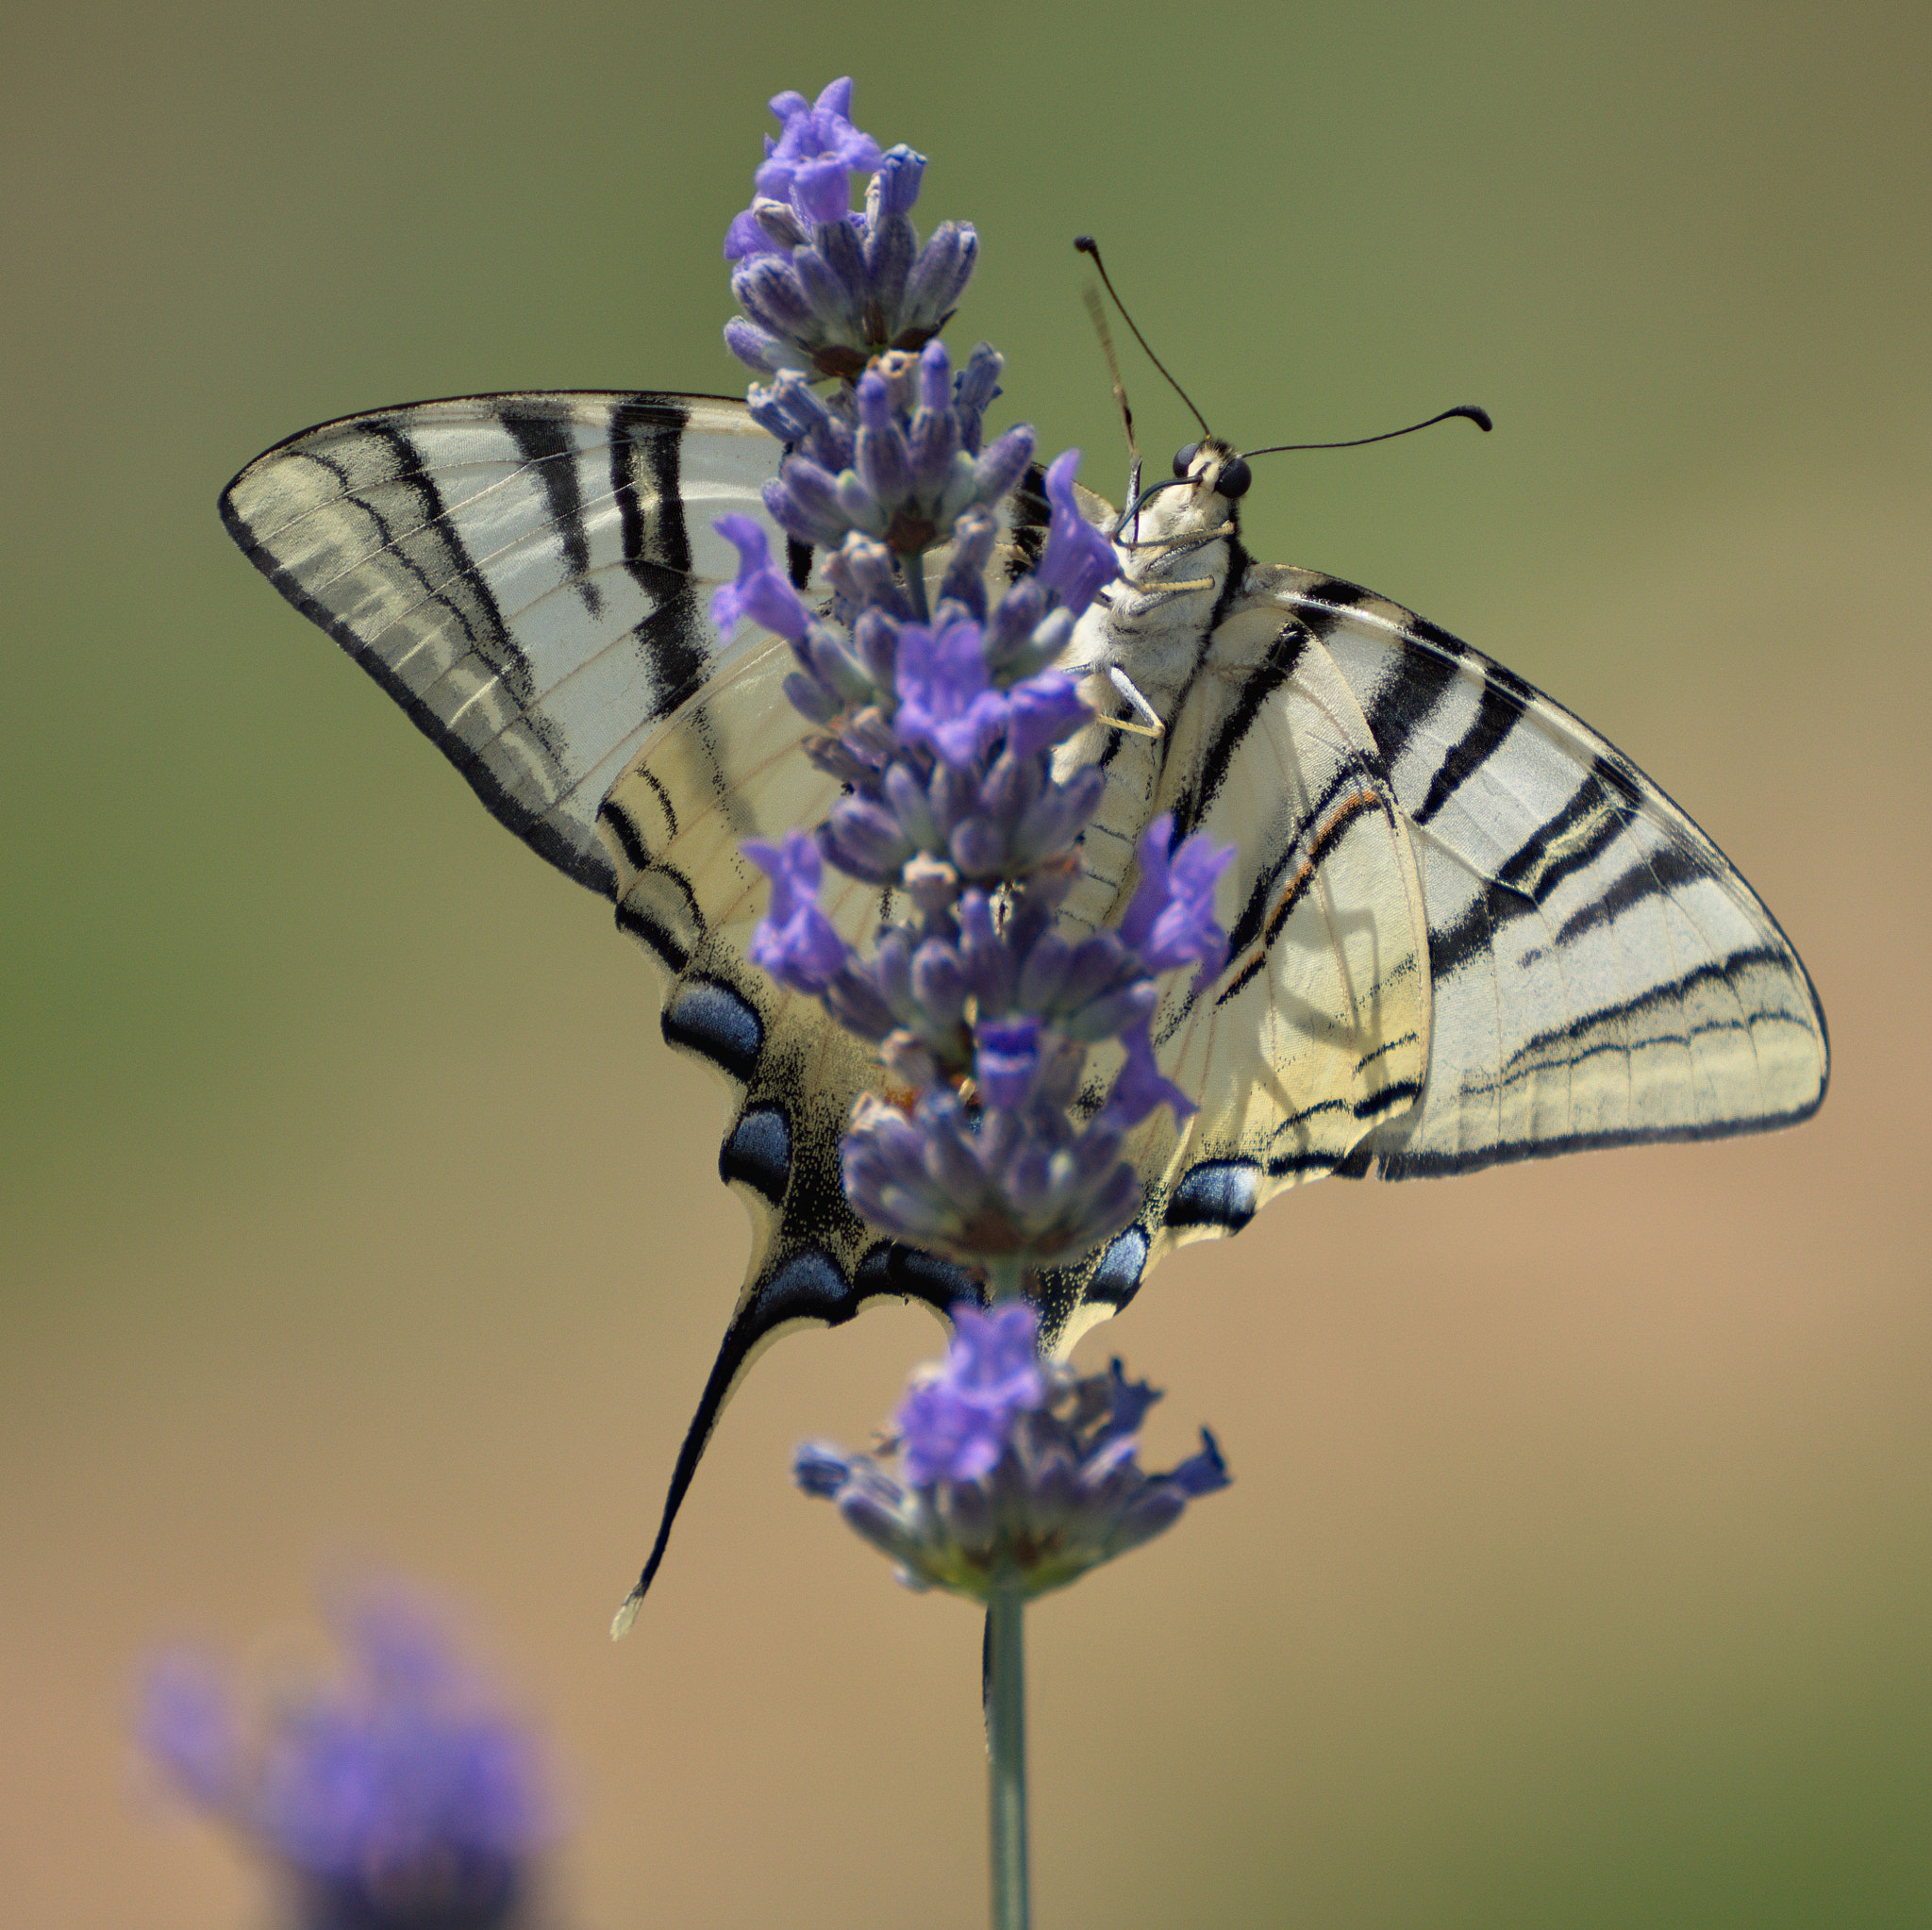
[(1350, 583), (1256, 568), (1320, 636), (1410, 825), (1434, 1030), (1387, 1178), (1793, 1124), (1824, 1099), (1824, 1012), (1716, 844), (1561, 705)]

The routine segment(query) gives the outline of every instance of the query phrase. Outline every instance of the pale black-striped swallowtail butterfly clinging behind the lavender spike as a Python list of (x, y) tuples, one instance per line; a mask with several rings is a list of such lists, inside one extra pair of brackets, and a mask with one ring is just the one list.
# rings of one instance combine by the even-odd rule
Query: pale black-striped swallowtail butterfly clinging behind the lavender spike
[[(777, 1335), (972, 1291), (852, 1213), (838, 1140), (869, 1051), (746, 960), (765, 887), (742, 840), (815, 823), (837, 794), (798, 753), (788, 649), (709, 614), (736, 570), (711, 527), (724, 512), (763, 522), (792, 582), (811, 580), (813, 553), (765, 516), (779, 458), (728, 398), (471, 396), (303, 431), (220, 502), (249, 560), (497, 819), (612, 900), (663, 976), (665, 1039), (732, 1090), (719, 1173), (750, 1207), (752, 1260), (630, 1613)], [(1061, 1347), (1163, 1252), (1238, 1233), (1298, 1180), (1754, 1132), (1826, 1090), (1804, 966), (1718, 846), (1480, 651), (1352, 583), (1254, 562), (1246, 487), (1209, 437), (1124, 518), (1082, 491), (1124, 574), (1066, 659), (1101, 715), (1063, 755), (1109, 784), (1065, 916), (1119, 918), (1163, 811), (1238, 858), (1227, 968), (1169, 987), (1155, 1020), (1161, 1070), (1200, 1111), (1140, 1128), (1140, 1215), (1041, 1281)], [(1045, 525), (1036, 469), (997, 568), (1028, 570)], [(891, 894), (848, 883), (827, 910), (860, 941)]]

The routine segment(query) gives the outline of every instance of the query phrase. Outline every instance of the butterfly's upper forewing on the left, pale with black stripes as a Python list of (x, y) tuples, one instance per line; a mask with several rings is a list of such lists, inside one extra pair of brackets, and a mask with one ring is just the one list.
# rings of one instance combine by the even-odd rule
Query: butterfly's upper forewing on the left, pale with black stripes
[(222, 520), (504, 825), (609, 893), (597, 806), (717, 661), (707, 589), (736, 553), (713, 518), (786, 553), (759, 495), (777, 464), (740, 402), (468, 396), (292, 437)]

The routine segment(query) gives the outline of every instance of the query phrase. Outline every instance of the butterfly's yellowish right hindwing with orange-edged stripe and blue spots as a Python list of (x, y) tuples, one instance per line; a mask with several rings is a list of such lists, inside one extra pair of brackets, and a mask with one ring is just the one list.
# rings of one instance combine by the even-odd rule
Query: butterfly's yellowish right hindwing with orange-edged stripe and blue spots
[(1165, 987), (1155, 1055), (1200, 1109), (1179, 1124), (1157, 1111), (1134, 1134), (1144, 1207), (1061, 1283), (1082, 1300), (1072, 1333), (1124, 1304), (1163, 1252), (1238, 1233), (1273, 1194), (1347, 1161), (1414, 1103), (1430, 1049), (1410, 838), (1362, 707), (1304, 624), (1229, 614), (1165, 736), (1117, 752), (1109, 777), (1101, 838), (1124, 804), (1128, 821), (1171, 811), (1177, 838), (1235, 846), (1217, 898), (1229, 960), (1206, 985), (1177, 974)]

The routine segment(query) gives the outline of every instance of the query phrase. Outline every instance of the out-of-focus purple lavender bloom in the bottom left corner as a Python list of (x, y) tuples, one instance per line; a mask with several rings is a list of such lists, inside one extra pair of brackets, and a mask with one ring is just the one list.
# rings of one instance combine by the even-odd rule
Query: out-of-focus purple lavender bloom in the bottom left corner
[(218, 1661), (164, 1656), (145, 1752), (280, 1866), (299, 1930), (508, 1930), (553, 1833), (533, 1739), (421, 1605), (367, 1596), (338, 1636), (346, 1675), (259, 1719)]

